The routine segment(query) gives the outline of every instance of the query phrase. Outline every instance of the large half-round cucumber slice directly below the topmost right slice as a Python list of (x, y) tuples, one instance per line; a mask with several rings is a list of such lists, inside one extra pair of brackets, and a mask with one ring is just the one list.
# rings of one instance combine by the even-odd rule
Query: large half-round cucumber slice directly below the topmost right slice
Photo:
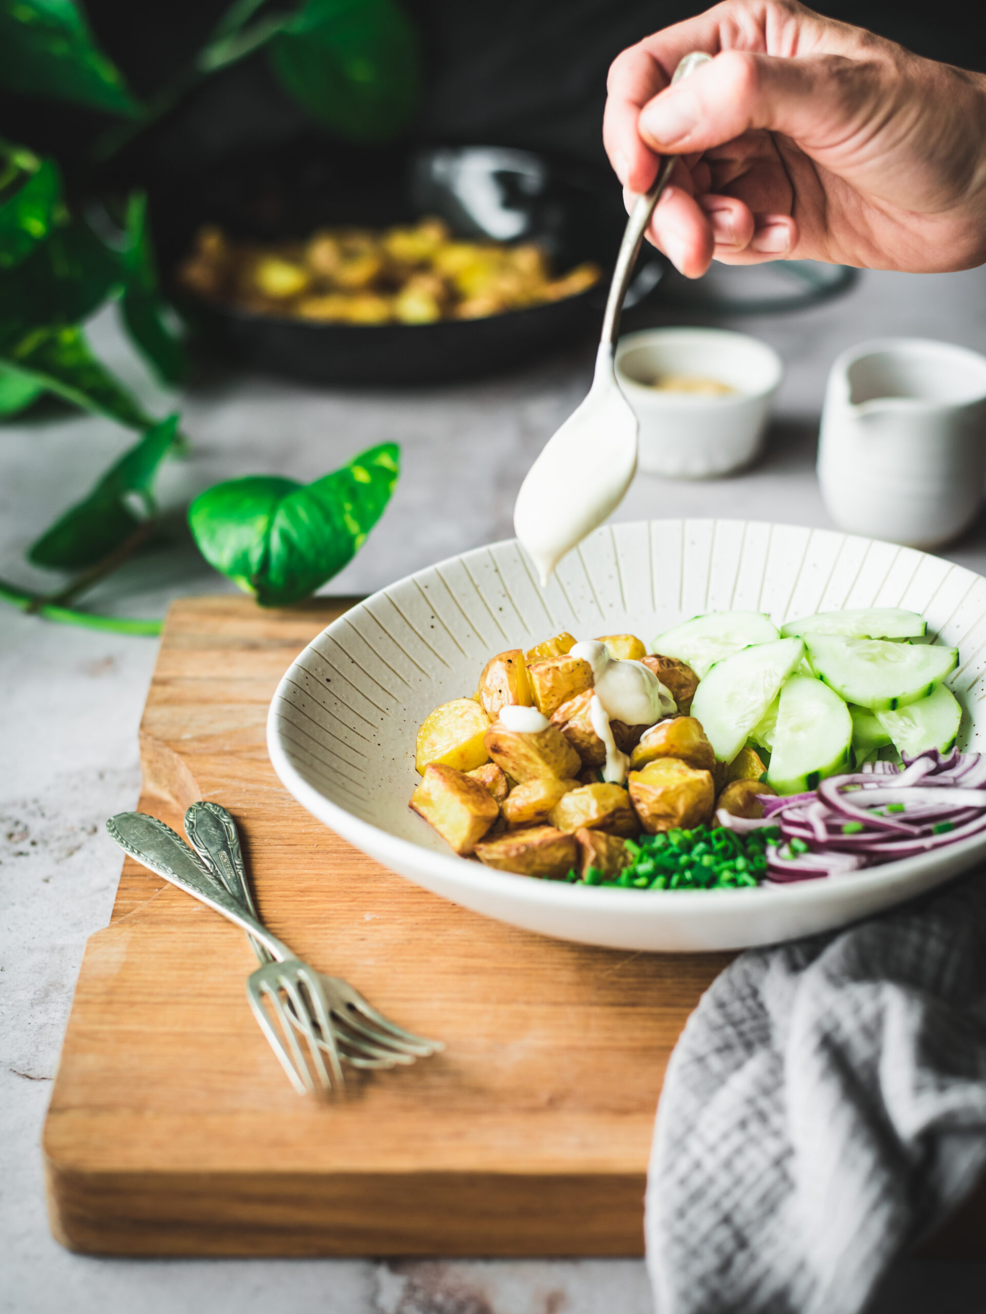
[(894, 644), (885, 639), (806, 635), (805, 646), (819, 679), (847, 703), (858, 703), (873, 712), (891, 712), (927, 698), (958, 661), (957, 648)]

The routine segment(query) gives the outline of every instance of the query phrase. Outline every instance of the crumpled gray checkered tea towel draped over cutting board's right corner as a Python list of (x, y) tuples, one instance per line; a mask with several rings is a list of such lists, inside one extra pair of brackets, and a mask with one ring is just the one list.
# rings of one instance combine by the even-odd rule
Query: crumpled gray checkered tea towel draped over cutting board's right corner
[(749, 950), (706, 991), (651, 1155), (657, 1314), (855, 1314), (983, 1166), (977, 872), (848, 930)]

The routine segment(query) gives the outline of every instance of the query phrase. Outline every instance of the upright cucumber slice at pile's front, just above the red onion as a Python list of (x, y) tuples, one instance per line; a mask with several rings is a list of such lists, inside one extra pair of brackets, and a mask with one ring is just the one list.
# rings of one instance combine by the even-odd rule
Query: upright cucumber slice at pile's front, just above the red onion
[(791, 675), (781, 690), (769, 784), (778, 794), (814, 790), (826, 775), (849, 770), (852, 716), (820, 679)]

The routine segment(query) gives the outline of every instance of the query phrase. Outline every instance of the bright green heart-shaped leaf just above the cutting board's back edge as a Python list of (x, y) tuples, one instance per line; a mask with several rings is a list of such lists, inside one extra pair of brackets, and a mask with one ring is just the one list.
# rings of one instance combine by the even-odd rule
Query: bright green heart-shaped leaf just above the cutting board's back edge
[(263, 607), (314, 593), (352, 560), (390, 499), (400, 448), (381, 443), (316, 480), (255, 474), (217, 484), (188, 511), (199, 549)]

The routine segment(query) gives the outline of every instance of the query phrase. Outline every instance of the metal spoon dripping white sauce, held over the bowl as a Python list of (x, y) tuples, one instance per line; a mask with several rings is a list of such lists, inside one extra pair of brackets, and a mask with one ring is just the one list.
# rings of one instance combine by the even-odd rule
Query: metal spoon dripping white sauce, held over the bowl
[[(685, 55), (672, 81), (709, 63)], [(617, 510), (636, 473), (636, 415), (623, 397), (614, 351), (630, 279), (653, 208), (668, 185), (677, 155), (664, 159), (657, 181), (636, 198), (621, 242), (602, 321), (596, 374), (589, 396), (551, 438), (521, 485), (514, 530), (547, 585), (561, 557)]]

